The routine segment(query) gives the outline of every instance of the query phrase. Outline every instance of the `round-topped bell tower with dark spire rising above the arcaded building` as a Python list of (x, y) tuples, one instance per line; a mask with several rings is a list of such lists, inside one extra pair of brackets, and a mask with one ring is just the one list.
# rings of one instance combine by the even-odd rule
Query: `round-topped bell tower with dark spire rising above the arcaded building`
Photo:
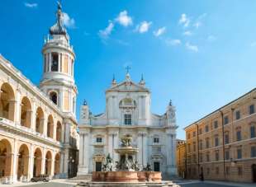
[(60, 110), (75, 118), (78, 94), (73, 78), (75, 54), (69, 44), (60, 3), (56, 12), (56, 23), (50, 27), (50, 35), (45, 39), (42, 54), (44, 73), (40, 81), (40, 89)]

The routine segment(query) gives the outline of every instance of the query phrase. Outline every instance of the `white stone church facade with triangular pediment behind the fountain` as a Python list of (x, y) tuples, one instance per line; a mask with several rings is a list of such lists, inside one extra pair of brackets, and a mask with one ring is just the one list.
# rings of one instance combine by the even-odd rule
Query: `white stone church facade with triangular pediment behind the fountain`
[(78, 175), (101, 171), (110, 154), (119, 161), (115, 148), (121, 137), (130, 135), (132, 146), (139, 148), (135, 155), (142, 169), (148, 163), (163, 175), (176, 175), (176, 119), (175, 107), (170, 102), (164, 115), (150, 112), (150, 91), (143, 77), (139, 83), (131, 80), (129, 72), (125, 81), (115, 78), (106, 91), (106, 110), (92, 115), (86, 102), (80, 109)]

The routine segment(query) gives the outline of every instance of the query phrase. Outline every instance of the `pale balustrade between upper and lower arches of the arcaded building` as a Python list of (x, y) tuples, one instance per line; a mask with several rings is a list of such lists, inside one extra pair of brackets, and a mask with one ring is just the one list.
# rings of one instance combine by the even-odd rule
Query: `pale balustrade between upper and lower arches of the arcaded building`
[(5, 118), (0, 117), (0, 124), (1, 123), (6, 125), (6, 126), (8, 126), (8, 127), (19, 129), (23, 133), (28, 133), (28, 134), (30, 134), (32, 136), (36, 136), (38, 138), (42, 138), (42, 139), (48, 140), (51, 143), (57, 143), (57, 144), (60, 145), (60, 143), (58, 141), (56, 141), (55, 139), (49, 138), (49, 137), (45, 136), (44, 134), (37, 133), (36, 131), (34, 131), (34, 130), (30, 129), (30, 128), (21, 126), (21, 124), (16, 124), (16, 123), (14, 123), (13, 121), (11, 121), (9, 119), (5, 119)]

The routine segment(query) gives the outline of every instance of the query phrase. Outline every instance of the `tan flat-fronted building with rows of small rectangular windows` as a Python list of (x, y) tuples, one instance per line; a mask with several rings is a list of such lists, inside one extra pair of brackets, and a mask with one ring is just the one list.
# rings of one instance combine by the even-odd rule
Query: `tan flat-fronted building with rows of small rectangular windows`
[(185, 128), (187, 178), (256, 182), (256, 88)]

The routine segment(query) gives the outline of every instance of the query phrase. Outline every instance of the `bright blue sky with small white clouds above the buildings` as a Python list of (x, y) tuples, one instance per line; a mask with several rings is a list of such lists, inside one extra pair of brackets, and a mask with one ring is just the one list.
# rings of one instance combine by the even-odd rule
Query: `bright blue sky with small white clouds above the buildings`
[[(41, 49), (55, 23), (55, 0), (0, 0), (0, 54), (39, 85)], [(105, 91), (143, 73), (151, 111), (169, 100), (183, 128), (255, 87), (255, 0), (62, 0), (76, 54), (78, 105), (105, 110)], [(77, 115), (78, 116), (78, 115)]]

